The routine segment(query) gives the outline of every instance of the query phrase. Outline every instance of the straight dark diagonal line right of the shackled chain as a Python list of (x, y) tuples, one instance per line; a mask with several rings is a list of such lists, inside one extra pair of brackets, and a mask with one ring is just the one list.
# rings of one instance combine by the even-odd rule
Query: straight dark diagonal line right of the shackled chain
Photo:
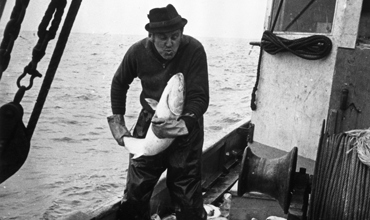
[(73, 23), (76, 19), (78, 10), (80, 8), (81, 1), (82, 0), (73, 0), (71, 2), (70, 7), (69, 7), (69, 11), (68, 11), (66, 19), (64, 21), (64, 25), (62, 27), (62, 30), (60, 32), (58, 42), (55, 46), (53, 55), (51, 57), (51, 60), (50, 60), (49, 66), (48, 66), (48, 69), (46, 71), (45, 79), (42, 83), (39, 95), (37, 97), (36, 104), (33, 108), (30, 120), (29, 120), (28, 125), (27, 125), (27, 137), (28, 137), (29, 140), (31, 140), (31, 138), (32, 138), (32, 135), (33, 135), (33, 132), (35, 130), (37, 121), (40, 117), (40, 114), (41, 114), (42, 108), (44, 106), (46, 97), (47, 97), (48, 92), (50, 90), (50, 86), (53, 82), (55, 73), (58, 69), (58, 65), (59, 65), (60, 60), (62, 58), (64, 49), (66, 47), (69, 34), (71, 32)]

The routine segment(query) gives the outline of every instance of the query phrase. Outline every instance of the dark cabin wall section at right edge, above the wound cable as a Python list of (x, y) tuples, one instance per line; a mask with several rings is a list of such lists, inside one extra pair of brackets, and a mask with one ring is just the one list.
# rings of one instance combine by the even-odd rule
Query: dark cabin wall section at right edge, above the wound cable
[(370, 45), (359, 45), (354, 50), (339, 48), (330, 99), (329, 134), (370, 127), (369, 63)]

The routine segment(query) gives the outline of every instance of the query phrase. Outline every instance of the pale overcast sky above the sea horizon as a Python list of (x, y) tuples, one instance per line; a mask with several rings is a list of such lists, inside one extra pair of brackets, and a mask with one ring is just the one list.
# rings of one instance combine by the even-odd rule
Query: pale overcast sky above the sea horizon
[[(37, 31), (49, 2), (30, 1), (22, 30)], [(188, 20), (185, 34), (194, 37), (261, 38), (266, 0), (83, 0), (73, 31), (146, 35), (144, 26), (148, 23), (149, 10), (165, 7), (169, 3)], [(1, 29), (8, 22), (14, 4), (15, 0), (7, 1), (0, 21)]]

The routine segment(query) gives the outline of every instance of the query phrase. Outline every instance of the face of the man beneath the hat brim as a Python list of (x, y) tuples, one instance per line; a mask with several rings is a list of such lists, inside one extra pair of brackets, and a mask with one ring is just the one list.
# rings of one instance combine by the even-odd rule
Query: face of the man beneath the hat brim
[(152, 41), (158, 53), (166, 60), (172, 59), (179, 49), (182, 31), (176, 30), (167, 33), (155, 33)]

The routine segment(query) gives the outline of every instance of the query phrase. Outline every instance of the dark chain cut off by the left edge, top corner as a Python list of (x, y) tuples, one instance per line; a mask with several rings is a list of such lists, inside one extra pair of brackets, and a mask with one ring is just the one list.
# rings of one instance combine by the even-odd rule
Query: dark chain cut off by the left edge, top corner
[(8, 68), (10, 54), (21, 30), (21, 24), (26, 14), (28, 3), (29, 0), (16, 0), (10, 20), (5, 27), (4, 37), (0, 44), (0, 79), (3, 72)]

